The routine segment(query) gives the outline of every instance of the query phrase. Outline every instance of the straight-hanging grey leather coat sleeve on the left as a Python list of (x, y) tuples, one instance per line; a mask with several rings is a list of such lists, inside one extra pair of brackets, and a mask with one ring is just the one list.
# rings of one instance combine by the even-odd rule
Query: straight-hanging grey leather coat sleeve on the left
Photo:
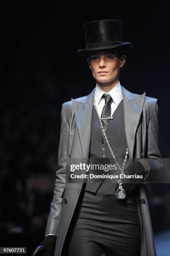
[(67, 144), (69, 136), (69, 125), (65, 118), (64, 109), (61, 110), (60, 142), (58, 148), (58, 168), (56, 172), (55, 189), (50, 205), (50, 214), (47, 220), (45, 236), (56, 235), (56, 227), (62, 204), (62, 192), (65, 187), (65, 166), (67, 163)]

